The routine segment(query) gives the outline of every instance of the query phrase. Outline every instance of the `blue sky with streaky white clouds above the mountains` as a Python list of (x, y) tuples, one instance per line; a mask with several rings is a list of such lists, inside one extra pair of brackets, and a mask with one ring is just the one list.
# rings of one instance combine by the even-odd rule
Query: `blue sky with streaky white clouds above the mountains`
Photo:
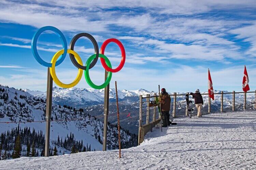
[[(170, 92), (208, 89), (208, 68), (213, 88), (242, 91), (244, 65), (251, 90), (256, 89), (255, 1), (5, 1), (0, 2), (0, 84), (46, 90), (47, 68), (34, 59), (31, 39), (43, 26), (61, 30), (69, 45), (74, 35), (86, 32), (99, 48), (117, 38), (126, 49), (124, 68), (113, 73), (111, 87)], [(44, 32), (39, 38), (40, 56), (47, 62), (61, 50), (59, 37)], [(83, 63), (94, 54), (82, 38), (75, 44)], [(106, 47), (112, 67), (119, 65), (117, 45)], [(69, 56), (56, 68), (58, 78), (70, 83), (77, 74)], [(90, 69), (91, 79), (102, 84), (100, 61)], [(76, 87), (88, 88), (84, 77)]]

